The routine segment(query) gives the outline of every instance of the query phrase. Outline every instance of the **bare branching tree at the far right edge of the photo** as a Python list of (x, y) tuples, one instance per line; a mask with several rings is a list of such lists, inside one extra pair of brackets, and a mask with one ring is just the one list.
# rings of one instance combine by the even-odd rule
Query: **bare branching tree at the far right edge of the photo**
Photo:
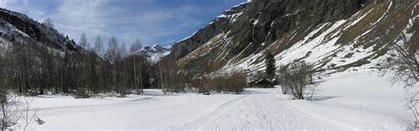
[[(410, 12), (400, 12), (406, 14), (408, 17), (408, 24), (405, 29), (400, 33), (399, 37), (393, 40), (390, 36), (384, 35), (386, 42), (390, 42), (391, 49), (387, 52), (389, 57), (381, 64), (381, 69), (393, 72), (392, 82), (402, 82), (405, 88), (418, 88), (419, 82), (419, 25), (416, 24), (417, 18), (417, 1), (414, 3), (400, 4), (398, 8), (407, 8), (413, 6)], [(410, 8), (407, 8), (410, 9)], [(404, 10), (400, 10), (404, 11)], [(419, 112), (417, 110), (417, 98), (419, 91), (415, 91), (410, 96), (410, 100), (406, 105), (409, 110), (414, 114), (415, 121), (413, 122), (412, 130), (419, 128)]]

